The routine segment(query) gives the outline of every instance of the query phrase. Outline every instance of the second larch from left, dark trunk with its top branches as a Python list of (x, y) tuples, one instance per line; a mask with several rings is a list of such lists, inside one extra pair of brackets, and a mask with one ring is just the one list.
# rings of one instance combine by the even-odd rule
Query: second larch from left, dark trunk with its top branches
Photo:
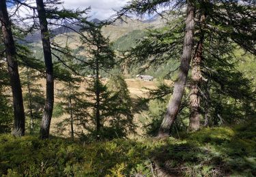
[[(29, 1), (19, 1), (14, 0), (20, 6), (24, 6), (33, 10), (32, 17), (23, 18), (23, 22), (27, 19), (33, 20), (30, 30), (38, 27), (41, 32), (42, 38), (42, 47), (44, 53), (44, 63), (45, 63), (45, 73), (46, 73), (46, 99), (44, 104), (44, 113), (42, 116), (42, 123), (40, 128), (40, 138), (45, 139), (49, 137), (51, 118), (53, 115), (53, 103), (54, 103), (54, 67), (53, 67), (53, 56), (57, 57), (57, 60), (61, 62), (61, 58), (55, 52), (63, 53), (61, 47), (58, 44), (55, 44), (51, 41), (51, 31), (48, 29), (48, 26), (54, 27), (63, 27), (70, 31), (76, 31), (72, 27), (68, 27), (68, 23), (76, 25), (76, 22), (86, 22), (87, 9), (85, 10), (69, 10), (69, 9), (59, 9), (57, 5), (61, 4), (59, 0), (53, 1), (43, 1), (36, 0), (36, 6), (31, 5)], [(18, 6), (19, 7), (19, 6)], [(37, 12), (37, 13), (36, 13)], [(81, 35), (81, 33), (79, 33)], [(63, 63), (65, 65), (65, 63)]]

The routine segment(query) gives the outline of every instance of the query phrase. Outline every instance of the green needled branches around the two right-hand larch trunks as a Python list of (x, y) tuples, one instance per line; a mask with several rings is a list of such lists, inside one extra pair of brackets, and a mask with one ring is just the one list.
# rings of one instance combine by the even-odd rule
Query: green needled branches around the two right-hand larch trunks
[[(121, 12), (124, 14), (135, 13), (143, 15), (154, 12), (159, 5), (168, 6), (171, 1), (132, 1), (128, 3)], [(255, 4), (247, 1), (195, 1), (196, 7), (195, 35), (193, 48), (196, 50), (197, 42), (203, 39), (202, 61), (200, 63), (201, 80), (199, 95), (201, 97), (200, 113), (210, 119), (208, 125), (240, 123), (246, 118), (255, 117), (255, 86), (253, 86), (253, 72), (251, 66), (246, 67), (241, 72), (237, 71), (236, 55), (234, 52), (241, 51), (255, 54), (255, 18), (251, 14), (255, 13)], [(173, 1), (171, 7), (180, 7), (186, 3)], [(227, 18), (226, 12), (229, 12)], [(173, 13), (175, 14), (175, 13)], [(200, 22), (202, 14), (205, 19)], [(247, 14), (248, 18), (243, 19)], [(176, 13), (175, 19), (171, 19), (169, 24), (161, 29), (152, 29), (146, 36), (137, 42), (137, 46), (130, 50), (127, 61), (132, 63), (132, 69), (137, 69), (138, 65), (142, 71), (149, 69), (161, 73), (165, 71), (165, 76), (171, 77), (173, 67), (162, 67), (170, 64), (170, 61), (180, 59), (182, 53), (182, 42), (184, 33), (184, 14)], [(234, 18), (236, 16), (236, 18)], [(232, 18), (231, 18), (232, 17)], [(234, 20), (236, 19), (236, 20)], [(246, 42), (245, 42), (246, 41)], [(247, 42), (248, 41), (248, 42)], [(238, 47), (239, 46), (239, 47)], [(241, 49), (242, 48), (242, 49)], [(193, 56), (195, 57), (195, 56)], [(253, 61), (252, 55), (240, 55), (247, 61)], [(245, 59), (247, 58), (247, 59)], [(248, 59), (249, 58), (249, 59)], [(251, 62), (249, 62), (251, 63)], [(135, 65), (134, 65), (135, 64)], [(127, 65), (127, 64), (126, 64)], [(178, 65), (177, 65), (178, 67)], [(176, 68), (177, 68), (176, 67)], [(245, 71), (245, 75), (243, 74)], [(251, 74), (249, 72), (251, 72)], [(174, 74), (175, 76), (175, 74)], [(245, 77), (247, 76), (247, 78)], [(248, 78), (249, 76), (249, 78)], [(206, 80), (208, 80), (206, 82)], [(187, 82), (190, 84), (190, 80)], [(184, 100), (184, 110), (188, 110), (188, 100)], [(185, 112), (186, 114), (186, 112)], [(182, 113), (182, 118), (184, 114)], [(162, 116), (158, 114), (158, 116)], [(156, 120), (156, 126), (160, 122)]]

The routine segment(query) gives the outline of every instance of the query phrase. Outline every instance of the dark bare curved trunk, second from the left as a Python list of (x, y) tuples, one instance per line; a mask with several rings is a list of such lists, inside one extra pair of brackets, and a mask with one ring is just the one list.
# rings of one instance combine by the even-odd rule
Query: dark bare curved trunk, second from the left
[(44, 63), (46, 66), (46, 101), (44, 105), (44, 114), (40, 128), (40, 138), (49, 137), (51, 118), (53, 115), (54, 102), (54, 79), (53, 79), (53, 62), (51, 55), (50, 38), (47, 27), (46, 10), (44, 9), (43, 0), (36, 0), (38, 18), (40, 22), (40, 31), (42, 37), (42, 46), (44, 50)]

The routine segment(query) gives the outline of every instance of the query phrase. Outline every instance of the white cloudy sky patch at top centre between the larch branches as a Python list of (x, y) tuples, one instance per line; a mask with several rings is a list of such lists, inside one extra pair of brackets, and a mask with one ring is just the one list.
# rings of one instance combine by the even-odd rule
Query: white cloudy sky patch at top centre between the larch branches
[(91, 18), (106, 20), (115, 14), (115, 10), (120, 10), (130, 0), (62, 0), (63, 6), (70, 9), (80, 10), (91, 7)]

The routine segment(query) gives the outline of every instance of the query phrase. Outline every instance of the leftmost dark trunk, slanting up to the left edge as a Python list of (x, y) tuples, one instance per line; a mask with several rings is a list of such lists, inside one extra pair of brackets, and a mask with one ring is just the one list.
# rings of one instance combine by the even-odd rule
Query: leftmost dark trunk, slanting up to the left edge
[(15, 136), (25, 135), (25, 112), (23, 106), (23, 93), (18, 74), (18, 63), (16, 60), (16, 48), (12, 36), (12, 26), (8, 16), (5, 0), (0, 0), (0, 21), (5, 44), (6, 60), (12, 86), (12, 97), (14, 106), (14, 129), (12, 134)]

